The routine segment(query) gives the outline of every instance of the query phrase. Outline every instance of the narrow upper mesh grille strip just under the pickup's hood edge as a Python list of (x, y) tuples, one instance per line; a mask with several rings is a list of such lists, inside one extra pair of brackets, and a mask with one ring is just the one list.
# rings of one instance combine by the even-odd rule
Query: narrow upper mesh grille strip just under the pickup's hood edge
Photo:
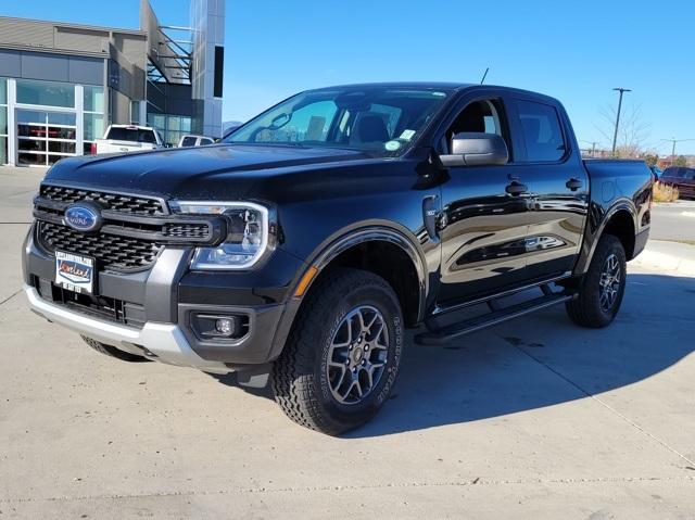
[(64, 204), (93, 201), (99, 203), (104, 210), (130, 215), (161, 216), (166, 214), (162, 201), (146, 196), (122, 195), (118, 193), (106, 193), (103, 191), (51, 185), (41, 186), (40, 196)]

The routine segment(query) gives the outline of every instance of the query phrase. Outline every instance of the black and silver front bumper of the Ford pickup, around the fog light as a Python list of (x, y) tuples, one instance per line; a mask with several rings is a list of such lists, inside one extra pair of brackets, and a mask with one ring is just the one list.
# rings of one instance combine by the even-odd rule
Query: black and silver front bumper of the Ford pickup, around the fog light
[[(299, 301), (288, 297), (302, 263), (276, 251), (263, 268), (245, 272), (191, 272), (190, 249), (165, 249), (149, 271), (100, 271), (99, 299), (123, 306), (121, 320), (54, 297), (55, 259), (29, 232), (23, 250), (24, 291), (34, 312), (80, 334), (170, 365), (226, 373), (275, 359)], [(237, 339), (201, 338), (195, 314), (241, 315)]]

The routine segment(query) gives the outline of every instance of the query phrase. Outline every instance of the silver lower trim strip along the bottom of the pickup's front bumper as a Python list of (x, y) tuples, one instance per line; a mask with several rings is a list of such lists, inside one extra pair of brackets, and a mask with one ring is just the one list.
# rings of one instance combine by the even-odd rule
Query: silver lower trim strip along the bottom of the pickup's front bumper
[(66, 310), (45, 301), (35, 288), (26, 283), (24, 293), (35, 313), (93, 340), (136, 353), (134, 348), (140, 345), (156, 356), (151, 357), (152, 359), (167, 365), (192, 367), (213, 373), (231, 371), (224, 363), (208, 362), (195, 354), (177, 325), (148, 321), (142, 329), (135, 329)]

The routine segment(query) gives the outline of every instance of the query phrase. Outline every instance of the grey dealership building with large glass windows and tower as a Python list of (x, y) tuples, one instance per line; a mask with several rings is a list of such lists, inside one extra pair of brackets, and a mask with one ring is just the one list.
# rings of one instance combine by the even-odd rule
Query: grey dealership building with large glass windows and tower
[(190, 27), (148, 0), (139, 30), (0, 16), (0, 164), (89, 154), (110, 124), (220, 137), (224, 21), (225, 0), (191, 0)]

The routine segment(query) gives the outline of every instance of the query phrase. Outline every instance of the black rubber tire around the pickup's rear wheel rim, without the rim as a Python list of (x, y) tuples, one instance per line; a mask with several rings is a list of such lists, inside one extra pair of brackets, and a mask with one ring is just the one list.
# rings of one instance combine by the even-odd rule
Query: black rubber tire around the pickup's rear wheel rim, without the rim
[[(601, 304), (601, 279), (606, 261), (610, 255), (615, 255), (618, 259), (621, 274), (620, 288), (610, 308), (603, 309)], [(565, 304), (570, 319), (581, 327), (592, 329), (601, 329), (610, 325), (622, 303), (627, 282), (626, 266), (626, 251), (620, 240), (612, 234), (601, 237), (589, 270), (578, 283), (578, 297)]]

